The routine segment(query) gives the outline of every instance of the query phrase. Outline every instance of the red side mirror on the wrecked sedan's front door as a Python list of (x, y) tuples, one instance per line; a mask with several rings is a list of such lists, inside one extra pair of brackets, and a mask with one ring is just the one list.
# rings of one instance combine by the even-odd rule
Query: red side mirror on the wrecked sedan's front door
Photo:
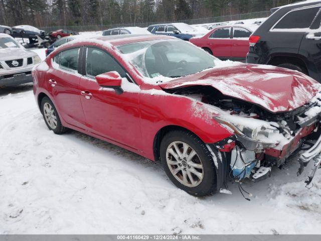
[(115, 89), (117, 94), (121, 94), (123, 89), (121, 86), (121, 76), (117, 71), (110, 71), (107, 73), (99, 74), (95, 77), (97, 83), (103, 88)]

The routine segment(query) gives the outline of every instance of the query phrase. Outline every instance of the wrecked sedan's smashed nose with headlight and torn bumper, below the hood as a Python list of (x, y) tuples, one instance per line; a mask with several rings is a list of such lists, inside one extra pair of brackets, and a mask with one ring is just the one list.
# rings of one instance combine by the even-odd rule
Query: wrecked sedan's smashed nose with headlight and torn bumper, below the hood
[[(244, 116), (233, 116), (233, 112), (214, 116), (217, 122), (234, 132), (233, 142), (226, 140), (217, 146), (222, 152), (231, 153), (231, 176), (237, 181), (265, 179), (270, 176), (271, 167), (281, 167), (293, 152), (307, 149), (300, 154), (297, 174), (300, 175), (303, 167), (314, 160), (314, 169), (305, 181), (309, 185), (320, 167), (321, 137), (310, 144), (305, 141), (319, 132), (321, 93), (293, 111), (265, 116), (251, 114), (253, 117), (246, 117), (244, 113)], [(226, 149), (226, 145), (231, 149)]]

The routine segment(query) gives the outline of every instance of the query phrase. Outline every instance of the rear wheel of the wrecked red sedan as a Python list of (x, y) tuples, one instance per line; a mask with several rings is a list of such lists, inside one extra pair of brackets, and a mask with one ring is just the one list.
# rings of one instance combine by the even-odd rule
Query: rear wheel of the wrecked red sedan
[(55, 105), (48, 97), (41, 100), (41, 112), (49, 130), (58, 135), (66, 132), (67, 129), (61, 124)]

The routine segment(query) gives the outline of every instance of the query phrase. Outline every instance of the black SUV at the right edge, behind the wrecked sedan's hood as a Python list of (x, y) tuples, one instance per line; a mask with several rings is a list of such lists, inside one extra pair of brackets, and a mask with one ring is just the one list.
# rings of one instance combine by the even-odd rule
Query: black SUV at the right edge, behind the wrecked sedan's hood
[(250, 36), (246, 62), (298, 70), (321, 82), (321, 1), (274, 11)]

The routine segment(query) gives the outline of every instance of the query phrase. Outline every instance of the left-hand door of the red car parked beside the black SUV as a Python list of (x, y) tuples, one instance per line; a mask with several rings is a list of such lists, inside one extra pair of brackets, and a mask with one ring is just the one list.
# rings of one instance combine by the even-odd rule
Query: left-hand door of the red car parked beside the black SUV
[(208, 38), (209, 47), (215, 57), (229, 59), (231, 57), (231, 28), (219, 28)]

